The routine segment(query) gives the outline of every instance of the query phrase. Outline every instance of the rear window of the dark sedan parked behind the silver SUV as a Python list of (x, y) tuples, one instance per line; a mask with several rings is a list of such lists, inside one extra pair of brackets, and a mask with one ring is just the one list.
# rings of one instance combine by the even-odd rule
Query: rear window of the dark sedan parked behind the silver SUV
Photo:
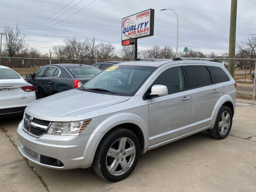
[(66, 67), (73, 77), (92, 77), (101, 72), (95, 67)]

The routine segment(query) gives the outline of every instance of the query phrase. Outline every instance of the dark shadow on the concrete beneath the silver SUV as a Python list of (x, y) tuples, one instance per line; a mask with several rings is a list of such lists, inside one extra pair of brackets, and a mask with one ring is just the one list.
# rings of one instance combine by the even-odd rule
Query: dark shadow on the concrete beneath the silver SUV
[[(164, 171), (164, 169), (166, 169), (166, 164), (170, 166), (171, 164), (173, 164), (173, 161), (179, 164), (180, 158), (183, 158), (184, 156), (186, 158), (188, 155), (191, 155), (191, 153), (186, 154), (186, 151), (198, 151), (198, 148), (203, 147), (204, 141), (214, 141), (214, 139), (209, 137), (207, 131), (197, 133), (195, 135), (191, 135), (188, 138), (170, 143), (169, 145), (150, 150), (146, 154), (140, 156), (138, 165), (137, 167), (135, 167), (130, 177), (123, 181), (119, 181), (118, 183), (134, 183), (136, 182), (136, 180), (138, 181), (138, 178), (141, 179), (141, 177), (148, 177), (152, 172), (154, 172), (156, 167), (158, 167), (158, 170), (162, 172)], [(196, 158), (198, 158), (198, 153), (195, 156)], [(48, 185), (63, 186), (65, 188), (65, 191), (68, 191), (69, 189), (74, 190), (74, 188), (69, 188), (69, 185), (66, 181), (69, 181), (69, 183), (76, 183), (75, 185), (80, 186), (81, 188), (82, 186), (84, 186), (88, 189), (87, 191), (93, 190), (93, 187), (95, 187), (95, 185), (99, 187), (99, 190), (102, 190), (103, 187), (106, 187), (106, 183), (110, 183), (106, 180), (99, 178), (94, 173), (92, 168), (74, 170), (52, 170), (38, 166), (33, 162), (30, 162), (30, 164), (31, 166), (35, 167), (35, 170), (38, 172), (39, 175), (43, 177)], [(150, 177), (153, 177), (153, 175), (151, 175)], [(104, 190), (107, 189), (104, 188)]]

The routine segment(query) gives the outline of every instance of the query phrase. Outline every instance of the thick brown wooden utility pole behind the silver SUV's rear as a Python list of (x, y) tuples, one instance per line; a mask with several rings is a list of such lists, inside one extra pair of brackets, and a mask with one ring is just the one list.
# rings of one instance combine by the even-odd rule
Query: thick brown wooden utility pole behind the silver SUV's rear
[(236, 14), (237, 14), (237, 0), (231, 0), (230, 13), (230, 31), (229, 31), (229, 73), (234, 77), (235, 74), (235, 53), (236, 53)]

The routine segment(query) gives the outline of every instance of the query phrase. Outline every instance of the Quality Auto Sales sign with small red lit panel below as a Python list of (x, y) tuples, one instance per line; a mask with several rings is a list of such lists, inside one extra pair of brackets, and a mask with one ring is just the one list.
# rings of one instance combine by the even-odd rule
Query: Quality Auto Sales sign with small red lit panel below
[(122, 19), (122, 45), (130, 45), (131, 38), (154, 35), (154, 10), (149, 9)]

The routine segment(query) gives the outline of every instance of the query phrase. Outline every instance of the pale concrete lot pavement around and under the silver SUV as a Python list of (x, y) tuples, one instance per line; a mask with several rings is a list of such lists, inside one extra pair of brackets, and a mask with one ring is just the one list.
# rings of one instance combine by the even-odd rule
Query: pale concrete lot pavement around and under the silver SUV
[(229, 136), (207, 131), (148, 151), (127, 179), (111, 183), (93, 170), (51, 170), (17, 150), (22, 117), (0, 119), (0, 191), (255, 191), (256, 107), (239, 106)]

